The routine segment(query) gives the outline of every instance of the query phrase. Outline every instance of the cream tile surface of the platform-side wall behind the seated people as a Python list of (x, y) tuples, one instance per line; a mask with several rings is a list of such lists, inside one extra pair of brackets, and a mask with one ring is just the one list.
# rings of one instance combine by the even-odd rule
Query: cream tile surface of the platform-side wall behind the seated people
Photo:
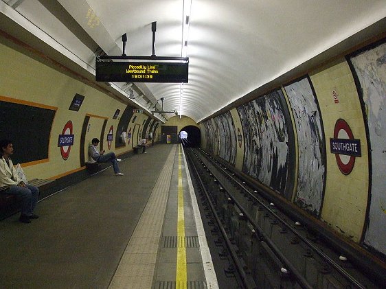
[[(36, 58), (39, 57), (36, 56)], [(99, 139), (104, 119), (107, 119), (105, 135), (111, 126), (115, 134), (119, 118), (113, 119), (113, 115), (117, 109), (123, 112), (127, 104), (45, 65), (43, 60), (38, 61), (3, 43), (0, 43), (0, 62), (2, 64), (0, 65), (0, 95), (2, 97), (57, 108), (49, 140), (49, 161), (23, 167), (28, 178), (56, 178), (82, 170), (79, 154), (80, 136), (86, 115), (93, 115), (89, 122), (91, 131), (87, 135), (93, 135)], [(76, 93), (84, 95), (84, 101), (78, 112), (69, 110)], [(146, 117), (146, 115), (141, 115), (137, 122), (142, 124)], [(69, 120), (73, 123), (74, 144), (71, 146), (69, 158), (65, 161), (58, 148), (58, 135), (62, 134)], [(85, 140), (85, 150), (90, 140)], [(104, 142), (104, 149), (108, 151), (106, 136), (101, 141)], [(126, 146), (115, 150), (115, 141), (113, 141), (111, 150), (114, 150), (116, 154), (122, 154), (131, 150), (131, 147)], [(85, 157), (87, 160), (87, 154)]]

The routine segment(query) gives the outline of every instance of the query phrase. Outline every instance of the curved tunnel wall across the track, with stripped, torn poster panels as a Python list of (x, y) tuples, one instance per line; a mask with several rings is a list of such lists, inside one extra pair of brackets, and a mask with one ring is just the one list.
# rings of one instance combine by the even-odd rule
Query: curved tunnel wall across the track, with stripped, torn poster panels
[(385, 42), (201, 123), (202, 148), (383, 256)]

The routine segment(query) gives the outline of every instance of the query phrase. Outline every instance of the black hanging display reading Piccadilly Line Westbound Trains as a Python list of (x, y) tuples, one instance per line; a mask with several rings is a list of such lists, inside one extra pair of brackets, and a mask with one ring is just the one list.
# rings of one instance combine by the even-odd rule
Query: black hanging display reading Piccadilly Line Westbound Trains
[(188, 62), (95, 62), (99, 82), (188, 82)]

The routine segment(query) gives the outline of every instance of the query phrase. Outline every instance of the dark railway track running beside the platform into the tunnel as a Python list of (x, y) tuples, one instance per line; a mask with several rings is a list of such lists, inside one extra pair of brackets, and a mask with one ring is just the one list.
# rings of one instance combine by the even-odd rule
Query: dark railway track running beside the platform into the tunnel
[(224, 164), (203, 150), (185, 153), (243, 288), (381, 288)]

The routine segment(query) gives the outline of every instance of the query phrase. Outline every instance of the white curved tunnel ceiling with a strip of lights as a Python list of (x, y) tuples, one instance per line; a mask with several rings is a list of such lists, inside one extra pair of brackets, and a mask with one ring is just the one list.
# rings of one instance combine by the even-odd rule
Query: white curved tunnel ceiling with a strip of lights
[[(128, 38), (127, 55), (150, 56), (154, 21), (157, 21), (156, 55), (181, 56), (183, 8), (185, 5), (186, 10), (191, 3), (189, 82), (183, 85), (182, 95), (180, 84), (146, 86), (155, 101), (164, 97), (164, 111), (178, 111), (196, 122), (386, 16), (384, 0), (3, 2), (14, 5), (14, 10), (86, 63), (89, 71), (95, 67), (95, 45), (108, 55), (121, 55), (124, 33)], [(89, 41), (84, 45), (85, 41), (75, 39), (65, 21), (57, 24), (49, 21), (45, 9), (53, 3), (67, 10), (95, 44)], [(40, 11), (42, 8), (44, 11)]]

